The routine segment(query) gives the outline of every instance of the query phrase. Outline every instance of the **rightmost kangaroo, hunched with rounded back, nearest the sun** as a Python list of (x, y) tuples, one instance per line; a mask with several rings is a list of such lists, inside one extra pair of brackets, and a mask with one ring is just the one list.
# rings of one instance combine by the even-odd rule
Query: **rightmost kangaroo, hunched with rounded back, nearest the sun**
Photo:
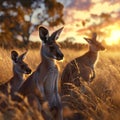
[(75, 58), (66, 65), (61, 77), (62, 94), (66, 92), (65, 83), (73, 83), (76, 86), (80, 86), (80, 78), (88, 83), (95, 78), (94, 66), (97, 62), (98, 51), (105, 50), (103, 45), (98, 42), (96, 38), (96, 33), (93, 33), (92, 38), (84, 38), (89, 44), (88, 52)]

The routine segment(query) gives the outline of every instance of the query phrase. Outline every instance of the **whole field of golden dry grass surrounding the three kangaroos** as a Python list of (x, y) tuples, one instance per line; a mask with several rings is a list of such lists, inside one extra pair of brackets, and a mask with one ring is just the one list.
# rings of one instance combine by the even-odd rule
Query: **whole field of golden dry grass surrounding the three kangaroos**
[[(24, 50), (17, 50), (22, 53)], [(65, 59), (58, 62), (60, 76), (65, 65), (85, 53), (85, 50), (62, 50)], [(10, 51), (0, 49), (0, 83), (8, 81), (12, 77), (12, 61)], [(40, 51), (29, 50), (25, 61), (34, 71), (40, 63)], [(85, 84), (86, 93), (70, 85), (72, 96), (62, 96), (65, 105), (72, 106), (64, 108), (65, 120), (120, 120), (120, 50), (106, 50), (100, 52), (96, 65), (96, 78), (90, 84)], [(25, 78), (28, 76), (25, 76)], [(3, 95), (2, 95), (3, 96)], [(6, 99), (3, 96), (3, 99)], [(14, 104), (10, 98), (7, 99), (9, 109), (0, 112), (0, 120), (42, 120), (40, 113), (25, 106), (21, 109), (13, 108)], [(68, 117), (69, 116), (69, 117)], [(72, 117), (70, 117), (72, 116)]]

